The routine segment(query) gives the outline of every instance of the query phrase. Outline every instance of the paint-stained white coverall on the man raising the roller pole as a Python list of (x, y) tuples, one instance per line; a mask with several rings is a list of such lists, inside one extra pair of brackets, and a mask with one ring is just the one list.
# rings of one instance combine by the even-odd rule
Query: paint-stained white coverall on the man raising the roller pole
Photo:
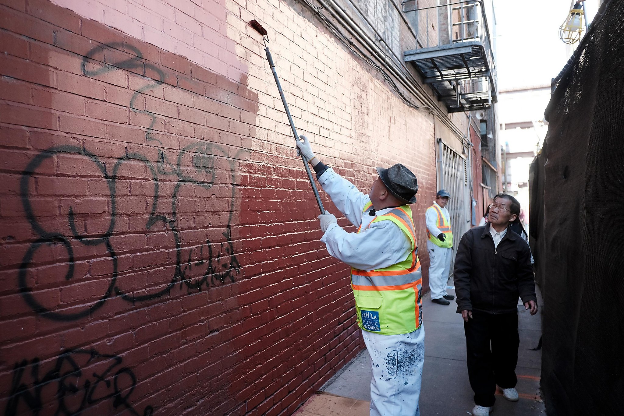
[[(379, 221), (367, 226), (376, 215), (394, 208), (363, 215), (370, 201), (351, 182), (333, 169), (326, 170), (319, 183), (336, 208), (354, 226), (362, 224), (358, 233), (348, 233), (338, 224), (329, 225), (321, 241), (331, 256), (361, 270), (392, 266), (407, 258), (411, 243), (401, 228), (392, 221)], [(362, 331), (366, 349), (371, 356), (371, 416), (419, 416), (422, 364), (424, 362), (424, 327), (409, 334), (381, 335)]]

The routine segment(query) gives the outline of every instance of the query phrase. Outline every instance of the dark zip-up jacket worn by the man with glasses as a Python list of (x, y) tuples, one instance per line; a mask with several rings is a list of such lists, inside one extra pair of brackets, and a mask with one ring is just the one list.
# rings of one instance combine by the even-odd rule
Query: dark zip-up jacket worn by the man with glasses
[(457, 312), (517, 312), (519, 296), (524, 303), (537, 302), (530, 255), (527, 243), (510, 228), (496, 248), (489, 223), (468, 230), (453, 271)]

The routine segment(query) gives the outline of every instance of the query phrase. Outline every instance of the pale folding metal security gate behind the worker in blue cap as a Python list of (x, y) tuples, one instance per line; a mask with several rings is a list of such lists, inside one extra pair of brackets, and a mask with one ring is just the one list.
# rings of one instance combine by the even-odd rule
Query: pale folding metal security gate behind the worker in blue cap
[[(438, 189), (446, 189), (451, 194), (446, 209), (451, 215), (453, 246), (457, 248), (459, 240), (470, 228), (470, 191), (468, 188), (468, 166), (466, 158), (440, 142), (441, 172)], [(455, 265), (455, 253), (451, 258), (451, 276)]]

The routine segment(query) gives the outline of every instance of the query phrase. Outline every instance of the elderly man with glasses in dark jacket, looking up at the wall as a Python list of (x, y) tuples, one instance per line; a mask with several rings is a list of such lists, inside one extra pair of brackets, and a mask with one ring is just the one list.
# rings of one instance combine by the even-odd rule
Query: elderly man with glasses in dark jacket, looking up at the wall
[(518, 400), (518, 297), (532, 315), (537, 313), (530, 249), (509, 228), (519, 214), (520, 203), (513, 196), (496, 195), (489, 223), (467, 231), (457, 248), (457, 313), (464, 318), (474, 416), (489, 416), (496, 385), (505, 399)]

